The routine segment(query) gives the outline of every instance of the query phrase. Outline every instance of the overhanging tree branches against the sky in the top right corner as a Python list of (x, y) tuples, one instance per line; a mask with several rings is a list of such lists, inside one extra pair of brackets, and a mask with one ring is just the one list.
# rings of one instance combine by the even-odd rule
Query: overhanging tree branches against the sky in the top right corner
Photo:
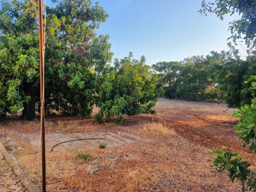
[(198, 11), (207, 15), (206, 12), (212, 12), (221, 20), (226, 14), (233, 15), (237, 13), (241, 16), (229, 23), (229, 30), (234, 42), (242, 38), (250, 46), (256, 46), (256, 1), (255, 0), (216, 0), (206, 3), (202, 0), (202, 8)]

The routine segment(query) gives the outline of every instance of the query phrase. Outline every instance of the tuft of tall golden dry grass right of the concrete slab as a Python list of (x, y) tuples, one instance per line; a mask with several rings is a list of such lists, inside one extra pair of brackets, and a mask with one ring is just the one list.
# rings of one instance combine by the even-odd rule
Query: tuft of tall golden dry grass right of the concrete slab
[(146, 135), (159, 135), (159, 134), (167, 134), (174, 135), (174, 129), (169, 129), (164, 126), (162, 123), (150, 123), (143, 124), (143, 128), (138, 130), (138, 134), (146, 134)]

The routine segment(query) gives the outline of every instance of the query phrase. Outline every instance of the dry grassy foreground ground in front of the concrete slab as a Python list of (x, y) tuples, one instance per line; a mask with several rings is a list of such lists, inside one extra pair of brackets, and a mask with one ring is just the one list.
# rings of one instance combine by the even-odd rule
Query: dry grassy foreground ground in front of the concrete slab
[[(146, 125), (148, 127), (148, 125)], [(154, 123), (154, 127), (164, 126)], [(154, 132), (148, 131), (149, 132)], [(164, 128), (166, 130), (166, 128)], [(162, 131), (160, 131), (162, 132)], [(166, 133), (166, 131), (164, 131)], [(160, 134), (160, 133), (159, 133)], [(150, 134), (151, 135), (151, 134)], [(134, 191), (226, 191), (237, 192), (238, 184), (229, 184), (226, 173), (214, 170), (207, 148), (196, 146), (176, 134), (160, 134), (155, 142), (138, 143), (102, 150), (94, 148), (92, 161), (81, 161), (74, 152), (49, 152), (46, 155), (47, 190), (52, 192), (134, 192)], [(153, 136), (152, 136), (153, 138)], [(124, 158), (132, 154), (133, 158)], [(20, 158), (26, 174), (40, 183), (36, 154)], [(86, 170), (98, 165), (96, 176)], [(39, 169), (40, 170), (40, 169)], [(136, 170), (135, 174), (131, 174)], [(228, 188), (232, 186), (232, 190)], [(234, 190), (238, 189), (238, 190)]]

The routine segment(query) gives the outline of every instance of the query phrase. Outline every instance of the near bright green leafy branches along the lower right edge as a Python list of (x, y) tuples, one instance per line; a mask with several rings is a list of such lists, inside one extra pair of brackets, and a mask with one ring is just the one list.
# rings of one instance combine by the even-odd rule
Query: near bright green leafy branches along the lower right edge
[[(246, 84), (252, 82), (252, 88), (256, 88), (256, 76), (251, 76)], [(254, 94), (252, 94), (254, 96)], [(251, 105), (244, 105), (238, 111), (234, 111), (233, 116), (240, 119), (239, 124), (235, 126), (235, 130), (244, 142), (243, 147), (248, 146), (252, 152), (256, 152), (256, 100), (252, 99)], [(217, 154), (212, 160), (214, 166), (219, 172), (228, 170), (228, 176), (232, 182), (236, 179), (242, 185), (242, 191), (245, 191), (245, 184), (248, 191), (256, 191), (256, 174), (250, 170), (250, 164), (242, 161), (238, 153), (227, 151), (225, 148), (221, 150), (213, 150), (213, 154)]]

